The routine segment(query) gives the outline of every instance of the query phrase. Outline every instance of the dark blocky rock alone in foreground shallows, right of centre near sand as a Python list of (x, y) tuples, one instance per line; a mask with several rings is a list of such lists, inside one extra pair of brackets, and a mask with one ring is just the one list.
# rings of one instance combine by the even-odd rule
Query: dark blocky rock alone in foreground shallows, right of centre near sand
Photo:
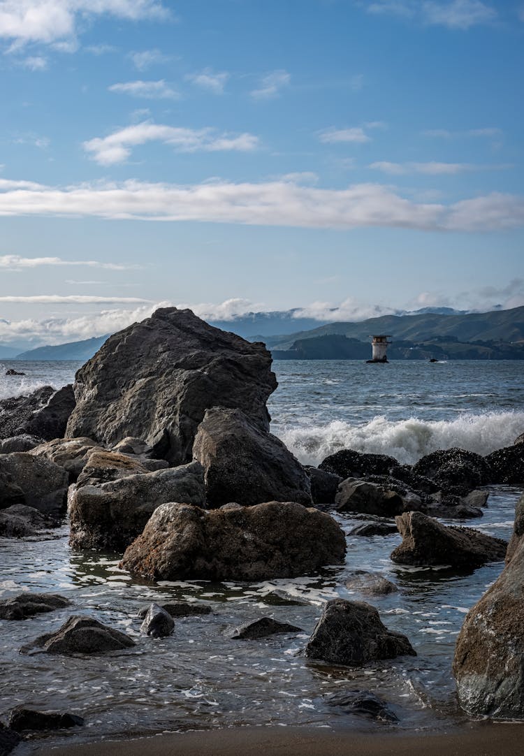
[(333, 599), (305, 646), (305, 655), (330, 664), (361, 666), (403, 654), (416, 656), (408, 638), (380, 621), (374, 606), (360, 601)]

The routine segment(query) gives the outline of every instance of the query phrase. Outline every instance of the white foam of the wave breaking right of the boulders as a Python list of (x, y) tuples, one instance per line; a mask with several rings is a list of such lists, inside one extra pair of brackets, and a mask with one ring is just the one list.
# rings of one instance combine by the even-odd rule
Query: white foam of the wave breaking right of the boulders
[(454, 420), (388, 420), (383, 415), (369, 423), (352, 425), (333, 420), (325, 426), (274, 429), (304, 464), (318, 465), (340, 449), (390, 454), (403, 464), (414, 464), (437, 449), (459, 447), (477, 454), (513, 444), (524, 429), (524, 412), (464, 414)]

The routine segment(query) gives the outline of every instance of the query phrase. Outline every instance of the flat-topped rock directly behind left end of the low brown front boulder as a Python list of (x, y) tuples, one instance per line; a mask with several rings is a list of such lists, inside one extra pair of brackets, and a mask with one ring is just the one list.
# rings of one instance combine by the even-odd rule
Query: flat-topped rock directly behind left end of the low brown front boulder
[(70, 497), (70, 544), (77, 549), (123, 551), (160, 504), (180, 501), (202, 505), (205, 495), (198, 462), (101, 485), (84, 485)]

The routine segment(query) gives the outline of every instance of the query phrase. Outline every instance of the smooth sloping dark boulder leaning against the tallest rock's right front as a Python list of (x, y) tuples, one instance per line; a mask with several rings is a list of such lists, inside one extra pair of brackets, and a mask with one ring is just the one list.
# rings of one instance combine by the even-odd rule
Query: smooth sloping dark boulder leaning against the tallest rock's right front
[(311, 504), (305, 469), (279, 438), (259, 429), (240, 410), (207, 410), (193, 454), (204, 469), (208, 507), (230, 501), (244, 506), (264, 501)]

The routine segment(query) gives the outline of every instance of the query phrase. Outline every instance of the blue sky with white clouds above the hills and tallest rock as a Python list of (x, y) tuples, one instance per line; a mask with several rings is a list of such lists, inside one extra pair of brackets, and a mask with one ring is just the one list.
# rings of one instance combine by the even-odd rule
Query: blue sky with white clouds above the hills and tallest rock
[(524, 0), (0, 0), (0, 343), (524, 305)]

